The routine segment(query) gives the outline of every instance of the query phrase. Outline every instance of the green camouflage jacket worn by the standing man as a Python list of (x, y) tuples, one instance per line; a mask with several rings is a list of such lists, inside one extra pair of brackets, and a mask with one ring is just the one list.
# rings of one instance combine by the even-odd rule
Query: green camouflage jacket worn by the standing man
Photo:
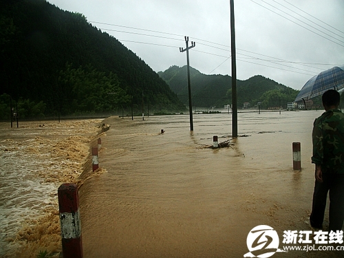
[(321, 164), (323, 173), (344, 173), (344, 114), (325, 111), (314, 121), (312, 163)]

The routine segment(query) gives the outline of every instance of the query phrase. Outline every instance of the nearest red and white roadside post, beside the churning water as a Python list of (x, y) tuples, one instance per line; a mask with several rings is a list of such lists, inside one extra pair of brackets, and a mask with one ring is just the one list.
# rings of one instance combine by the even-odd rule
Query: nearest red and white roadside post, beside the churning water
[(82, 258), (81, 223), (76, 184), (58, 187), (63, 258)]

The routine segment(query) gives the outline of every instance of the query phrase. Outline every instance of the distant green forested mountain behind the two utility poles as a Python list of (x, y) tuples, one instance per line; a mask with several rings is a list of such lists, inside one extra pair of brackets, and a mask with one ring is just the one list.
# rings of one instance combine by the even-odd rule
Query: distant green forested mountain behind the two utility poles
[[(187, 105), (189, 103), (187, 87), (186, 66), (172, 66), (159, 76), (169, 84), (169, 87), (178, 95), (180, 100)], [(223, 107), (232, 103), (232, 78), (228, 75), (206, 75), (196, 69), (190, 68), (191, 94), (193, 106), (198, 107)], [(253, 76), (248, 80), (237, 80), (237, 106), (244, 107), (244, 103), (250, 106), (261, 102), (262, 108), (279, 107), (286, 108), (288, 102), (293, 102), (299, 91), (281, 85), (264, 76)]]

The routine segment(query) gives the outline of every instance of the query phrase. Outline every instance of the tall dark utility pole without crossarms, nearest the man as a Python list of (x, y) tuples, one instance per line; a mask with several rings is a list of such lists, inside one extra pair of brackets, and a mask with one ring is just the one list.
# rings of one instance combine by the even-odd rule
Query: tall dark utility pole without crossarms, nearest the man
[(232, 136), (237, 137), (237, 63), (235, 54), (234, 1), (230, 0), (230, 47), (232, 52)]

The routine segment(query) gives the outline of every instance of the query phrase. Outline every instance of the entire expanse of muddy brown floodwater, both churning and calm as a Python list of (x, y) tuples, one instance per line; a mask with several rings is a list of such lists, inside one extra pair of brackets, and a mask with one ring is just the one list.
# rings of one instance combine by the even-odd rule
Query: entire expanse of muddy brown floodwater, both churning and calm
[[(80, 186), (84, 257), (244, 257), (259, 225), (277, 231), (279, 248), (288, 246), (284, 230), (312, 230), (311, 131), (321, 113), (239, 113), (240, 137), (222, 149), (206, 145), (213, 136), (231, 139), (230, 114), (195, 115), (193, 132), (188, 115), (107, 118), (99, 153), (107, 173)], [(45, 249), (58, 256), (57, 188), (79, 180), (100, 122), (1, 125), (0, 257)], [(292, 169), (292, 142), (301, 142), (301, 171)]]

